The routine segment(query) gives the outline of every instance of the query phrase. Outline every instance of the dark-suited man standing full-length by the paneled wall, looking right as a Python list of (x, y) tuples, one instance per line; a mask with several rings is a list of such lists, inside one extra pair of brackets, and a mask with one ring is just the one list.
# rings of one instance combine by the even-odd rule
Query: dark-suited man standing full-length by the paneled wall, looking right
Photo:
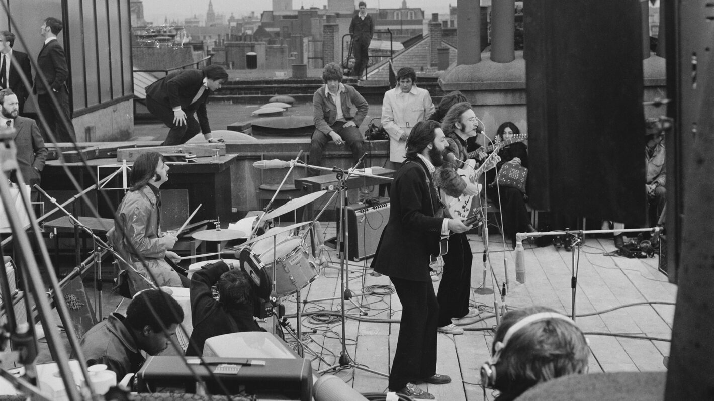
[[(41, 35), (45, 38), (44, 46), (37, 55), (37, 66), (47, 81), (45, 86), (40, 77), (40, 73), (35, 74), (34, 93), (37, 93), (37, 103), (40, 111), (44, 113), (49, 129), (54, 130), (54, 136), (58, 142), (76, 141), (74, 126), (69, 107), (69, 90), (67, 89), (67, 59), (64, 49), (57, 41), (57, 34), (62, 30), (62, 21), (54, 17), (48, 17), (42, 24)], [(55, 107), (50, 92), (59, 103)], [(44, 132), (45, 141), (49, 141), (49, 135)]]

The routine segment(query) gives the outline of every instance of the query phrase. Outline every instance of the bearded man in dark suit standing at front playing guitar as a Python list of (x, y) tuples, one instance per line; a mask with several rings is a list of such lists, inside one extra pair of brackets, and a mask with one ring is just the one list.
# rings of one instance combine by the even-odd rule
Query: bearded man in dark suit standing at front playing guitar
[(440, 235), (470, 229), (461, 220), (439, 217), (441, 203), (431, 181), (443, 164), (446, 136), (436, 121), (414, 126), (406, 143), (406, 161), (392, 183), (391, 213), (375, 255), (374, 271), (388, 275), (402, 304), (399, 338), (389, 373), (389, 390), (433, 400), (416, 382), (451, 382), (436, 374), (439, 304), (429, 275), (429, 257)]

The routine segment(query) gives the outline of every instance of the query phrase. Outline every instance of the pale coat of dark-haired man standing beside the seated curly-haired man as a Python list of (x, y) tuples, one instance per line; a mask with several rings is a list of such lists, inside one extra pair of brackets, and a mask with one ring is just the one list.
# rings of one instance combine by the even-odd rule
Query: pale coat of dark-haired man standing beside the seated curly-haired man
[(411, 128), (419, 121), (424, 121), (434, 112), (431, 95), (426, 89), (411, 86), (406, 93), (401, 88), (390, 89), (384, 93), (382, 101), (382, 127), (389, 135), (389, 160), (402, 163), (406, 156), (406, 141), (401, 140), (402, 133), (411, 133)]

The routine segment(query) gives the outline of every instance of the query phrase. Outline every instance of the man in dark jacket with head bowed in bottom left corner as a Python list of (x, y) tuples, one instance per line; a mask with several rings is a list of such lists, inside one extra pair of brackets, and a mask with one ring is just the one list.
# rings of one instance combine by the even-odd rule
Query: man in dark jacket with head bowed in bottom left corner
[(127, 373), (139, 372), (144, 364), (139, 351), (158, 355), (166, 350), (169, 337), (176, 333), (181, 322), (183, 310), (171, 295), (161, 290), (144, 290), (131, 300), (126, 317), (112, 313), (84, 333), (79, 346), (87, 365), (104, 364), (116, 373), (119, 381)]

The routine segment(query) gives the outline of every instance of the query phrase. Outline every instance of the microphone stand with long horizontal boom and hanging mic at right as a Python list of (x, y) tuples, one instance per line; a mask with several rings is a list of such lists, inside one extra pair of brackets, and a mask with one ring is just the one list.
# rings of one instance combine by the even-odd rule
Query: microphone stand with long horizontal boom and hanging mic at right
[[(516, 281), (518, 283), (526, 283), (526, 261), (523, 255), (523, 240), (529, 237), (541, 237), (543, 235), (573, 235), (575, 241), (573, 244), (577, 244), (583, 239), (585, 234), (605, 234), (605, 233), (646, 233), (651, 232), (653, 234), (660, 233), (661, 227), (652, 228), (623, 228), (620, 230), (555, 230), (546, 231), (545, 233), (516, 233)], [(580, 260), (580, 247), (578, 247), (578, 264)], [(570, 278), (570, 289), (573, 292), (570, 318), (575, 320), (575, 288), (578, 285), (578, 266), (575, 265), (575, 251), (573, 251), (573, 266), (572, 266), (572, 277)]]

